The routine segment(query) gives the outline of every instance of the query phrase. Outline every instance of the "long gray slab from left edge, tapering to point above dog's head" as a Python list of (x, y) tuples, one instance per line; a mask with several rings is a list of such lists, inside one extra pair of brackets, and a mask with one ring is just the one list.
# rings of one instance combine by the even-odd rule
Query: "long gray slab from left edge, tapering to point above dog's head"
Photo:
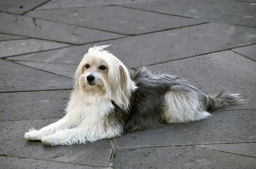
[(0, 30), (1, 33), (23, 35), (63, 43), (83, 44), (123, 37), (115, 33), (88, 29), (81, 26), (5, 13), (0, 13), (0, 22), (3, 25)]

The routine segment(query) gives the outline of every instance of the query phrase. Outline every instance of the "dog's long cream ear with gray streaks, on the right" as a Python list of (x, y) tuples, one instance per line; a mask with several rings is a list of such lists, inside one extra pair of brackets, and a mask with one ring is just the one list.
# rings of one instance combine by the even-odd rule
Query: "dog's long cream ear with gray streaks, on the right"
[(135, 83), (131, 80), (130, 73), (121, 61), (117, 61), (119, 67), (117, 86), (115, 88), (115, 102), (124, 110), (129, 109), (130, 97), (132, 92), (137, 89)]

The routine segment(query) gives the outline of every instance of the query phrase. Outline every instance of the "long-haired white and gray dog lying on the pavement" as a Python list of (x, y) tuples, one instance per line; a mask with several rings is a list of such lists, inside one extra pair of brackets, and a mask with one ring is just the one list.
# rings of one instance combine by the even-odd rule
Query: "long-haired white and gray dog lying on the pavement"
[(192, 83), (169, 74), (152, 74), (142, 67), (130, 75), (125, 65), (104, 46), (88, 50), (75, 73), (66, 115), (25, 133), (44, 145), (73, 145), (154, 128), (163, 123), (186, 123), (209, 112), (241, 104), (240, 94), (207, 96)]

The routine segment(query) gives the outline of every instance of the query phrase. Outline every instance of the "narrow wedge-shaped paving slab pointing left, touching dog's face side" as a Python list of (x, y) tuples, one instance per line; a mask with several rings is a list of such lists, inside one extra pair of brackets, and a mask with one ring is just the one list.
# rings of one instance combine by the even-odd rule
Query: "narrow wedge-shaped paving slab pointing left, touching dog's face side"
[(58, 63), (39, 63), (39, 62), (28, 62), (28, 61), (17, 61), (23, 65), (29, 67), (35, 67), (37, 69), (49, 71), (57, 75), (62, 75), (65, 77), (73, 78), (78, 65), (69, 64), (58, 64)]

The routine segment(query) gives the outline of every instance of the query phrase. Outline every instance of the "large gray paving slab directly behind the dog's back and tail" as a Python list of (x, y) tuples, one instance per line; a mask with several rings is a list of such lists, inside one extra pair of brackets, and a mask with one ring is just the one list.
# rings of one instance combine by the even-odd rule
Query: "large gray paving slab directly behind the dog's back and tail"
[(242, 93), (246, 103), (222, 110), (256, 108), (256, 63), (232, 51), (223, 51), (148, 67), (152, 72), (171, 73), (193, 82), (206, 94), (221, 90)]

